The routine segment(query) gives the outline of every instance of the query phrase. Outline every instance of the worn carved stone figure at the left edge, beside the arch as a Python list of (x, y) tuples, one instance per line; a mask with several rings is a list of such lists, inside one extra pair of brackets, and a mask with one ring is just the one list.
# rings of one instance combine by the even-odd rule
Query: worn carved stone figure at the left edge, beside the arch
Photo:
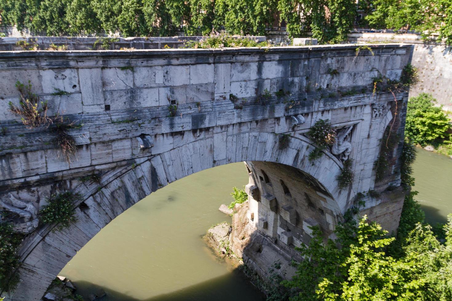
[(13, 194), (7, 194), (0, 199), (0, 211), (2, 222), (12, 222), (17, 232), (30, 233), (38, 227), (38, 211), (33, 204), (20, 200)]

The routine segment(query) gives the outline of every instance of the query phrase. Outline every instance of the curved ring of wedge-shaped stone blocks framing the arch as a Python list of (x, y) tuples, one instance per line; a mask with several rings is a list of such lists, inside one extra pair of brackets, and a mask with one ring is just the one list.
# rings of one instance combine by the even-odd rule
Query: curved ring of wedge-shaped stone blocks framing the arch
[(313, 164), (307, 156), (314, 147), (307, 139), (292, 137), (285, 149), (278, 147), (278, 139), (277, 134), (259, 132), (228, 136), (226, 141), (214, 136), (143, 158), (141, 162), (135, 160), (136, 164), (104, 173), (99, 182), (89, 180), (74, 185), (72, 190), (82, 195), (75, 208), (77, 221), (61, 231), (52, 231), (56, 225), (39, 227), (28, 236), (19, 250), (23, 258), (21, 282), (11, 300), (40, 300), (66, 263), (116, 216), (153, 191), (207, 168), (240, 161), (288, 165), (315, 181), (325, 193), (321, 194), (325, 206), (340, 215), (348, 192), (339, 190), (334, 180), (342, 166), (339, 160), (325, 153)]

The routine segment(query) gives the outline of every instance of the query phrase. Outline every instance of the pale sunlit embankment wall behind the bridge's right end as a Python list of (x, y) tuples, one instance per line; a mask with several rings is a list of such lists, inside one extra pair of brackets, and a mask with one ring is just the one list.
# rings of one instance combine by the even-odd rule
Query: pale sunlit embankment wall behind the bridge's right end
[(419, 83), (410, 88), (410, 96), (430, 93), (438, 105), (452, 110), (452, 46), (424, 43), (419, 34), (364, 32), (348, 34), (350, 42), (391, 42), (414, 44), (412, 64), (419, 69)]

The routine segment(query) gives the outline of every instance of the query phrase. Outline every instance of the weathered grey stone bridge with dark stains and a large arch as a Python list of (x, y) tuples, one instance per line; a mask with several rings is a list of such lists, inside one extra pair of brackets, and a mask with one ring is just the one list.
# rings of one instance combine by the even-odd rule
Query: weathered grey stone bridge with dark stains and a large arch
[[(368, 190), (380, 196), (367, 197), (362, 213), (395, 231), (407, 94), (373, 93), (372, 81), (399, 79), (412, 47), (379, 44), (358, 55), (355, 48), (2, 52), (0, 208), (27, 236), (18, 250), (19, 285), (1, 296), (40, 300), (118, 214), (168, 183), (232, 162), (248, 166), (249, 221), (287, 248), (309, 241), (312, 225), (331, 236)], [(70, 162), (55, 132), (27, 129), (8, 110), (9, 102), (19, 104), (16, 81), (30, 81), (50, 115), (63, 112), (82, 125), (69, 130), (77, 144)], [(174, 116), (170, 105), (177, 105)], [(315, 145), (306, 132), (320, 119), (330, 120), (338, 138), (310, 162)], [(390, 124), (399, 140), (389, 172), (376, 182), (374, 162)], [(348, 158), (353, 183), (339, 189)], [(56, 231), (38, 224), (39, 208), (64, 190), (81, 195), (77, 221)]]

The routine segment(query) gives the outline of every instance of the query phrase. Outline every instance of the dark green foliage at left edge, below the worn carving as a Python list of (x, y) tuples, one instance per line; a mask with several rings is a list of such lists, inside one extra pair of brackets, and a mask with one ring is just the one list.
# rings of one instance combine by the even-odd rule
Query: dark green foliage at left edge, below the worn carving
[(14, 232), (9, 222), (0, 222), (0, 291), (14, 290), (19, 281), (19, 256), (17, 248), (22, 242), (22, 235)]

